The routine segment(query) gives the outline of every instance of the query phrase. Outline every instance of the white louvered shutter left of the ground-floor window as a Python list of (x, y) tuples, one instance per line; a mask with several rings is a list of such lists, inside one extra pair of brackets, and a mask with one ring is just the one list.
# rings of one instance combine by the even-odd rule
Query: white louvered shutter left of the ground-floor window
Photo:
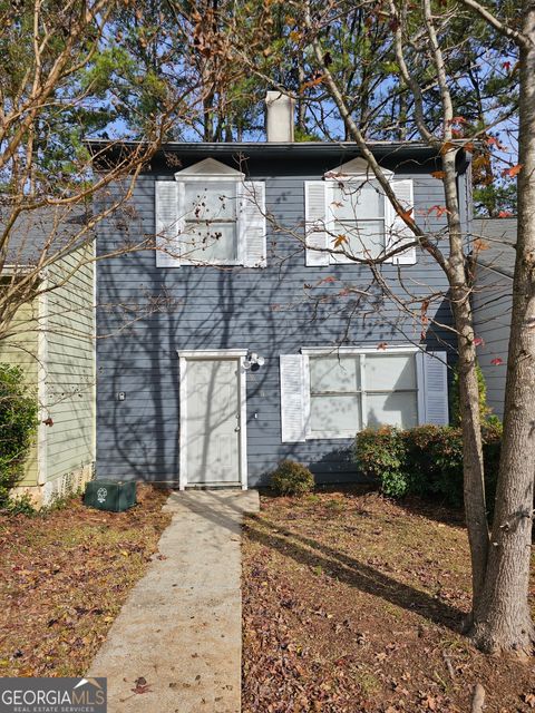
[(304, 441), (310, 413), (309, 358), (281, 354), (282, 442)]

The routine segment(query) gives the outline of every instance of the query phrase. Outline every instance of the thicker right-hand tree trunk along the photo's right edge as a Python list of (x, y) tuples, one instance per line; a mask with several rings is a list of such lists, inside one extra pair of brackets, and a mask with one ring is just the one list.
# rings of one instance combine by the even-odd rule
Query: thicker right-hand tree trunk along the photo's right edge
[(518, 237), (504, 437), (485, 586), (473, 636), (485, 651), (531, 653), (528, 582), (535, 475), (535, 0), (524, 0), (521, 48)]

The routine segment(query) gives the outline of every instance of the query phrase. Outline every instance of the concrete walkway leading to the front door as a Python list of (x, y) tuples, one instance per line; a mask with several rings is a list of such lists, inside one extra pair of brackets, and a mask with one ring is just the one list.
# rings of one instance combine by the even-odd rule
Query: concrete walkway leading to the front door
[[(108, 678), (108, 713), (239, 713), (241, 521), (259, 494), (174, 492), (164, 509), (159, 555), (87, 675)], [(133, 692), (140, 677), (146, 693)]]

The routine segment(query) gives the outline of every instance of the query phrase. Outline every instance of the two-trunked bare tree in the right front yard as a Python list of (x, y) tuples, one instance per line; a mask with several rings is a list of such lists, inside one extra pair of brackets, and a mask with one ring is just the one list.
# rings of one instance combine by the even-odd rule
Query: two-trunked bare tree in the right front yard
[[(488, 10), (475, 0), (465, 0), (470, 8), (480, 8), (488, 21)], [(434, 250), (427, 236), (414, 226), (415, 235), (447, 274), (455, 328), (459, 348), (459, 388), (463, 421), (463, 462), (465, 514), (473, 567), (473, 612), (470, 624), (476, 643), (484, 648), (528, 649), (534, 629), (527, 607), (529, 574), (529, 545), (533, 509), (533, 479), (535, 471), (535, 0), (523, 0), (523, 33), (502, 27), (515, 41), (521, 35), (521, 172), (519, 238), (514, 280), (514, 312), (510, 333), (507, 375), (507, 401), (500, 477), (497, 491), (495, 527), (492, 539), (487, 526), (483, 445), (479, 419), (479, 389), (476, 372), (474, 320), (470, 306), (471, 279), (466, 270), (463, 224), (456, 185), (455, 145), (451, 145), (454, 102), (448, 88), (448, 75), (435, 27), (436, 16), (431, 1), (422, 0), (426, 27), (434, 52), (437, 81), (444, 108), (440, 138), (428, 128), (422, 95), (411, 77), (402, 52), (403, 28), (397, 27), (396, 51), (403, 80), (415, 98), (415, 116), (424, 140), (439, 148), (442, 156), (444, 187), (448, 214), (449, 257), (444, 258), (441, 246)], [(396, 4), (392, 2), (396, 19)], [(487, 17), (488, 16), (488, 17)], [(402, 19), (402, 14), (400, 16)], [(312, 29), (310, 7), (305, 4), (305, 25)], [(396, 205), (396, 198), (386, 185), (385, 176), (371, 154), (359, 126), (351, 116), (346, 98), (335, 84), (318, 37), (312, 36), (315, 58), (323, 69), (328, 91), (337, 104), (344, 121), (346, 136), (350, 135), (359, 146), (376, 174), (381, 188)], [(532, 84), (529, 84), (532, 82)]]

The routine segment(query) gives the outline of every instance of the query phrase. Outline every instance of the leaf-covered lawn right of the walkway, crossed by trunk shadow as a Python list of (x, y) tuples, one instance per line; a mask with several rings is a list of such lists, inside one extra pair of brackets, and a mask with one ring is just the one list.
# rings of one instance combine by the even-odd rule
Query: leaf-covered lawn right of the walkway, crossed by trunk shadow
[(459, 634), (468, 567), (459, 515), (437, 506), (263, 497), (244, 528), (244, 713), (460, 713), (477, 682), (486, 713), (533, 711), (533, 661)]

